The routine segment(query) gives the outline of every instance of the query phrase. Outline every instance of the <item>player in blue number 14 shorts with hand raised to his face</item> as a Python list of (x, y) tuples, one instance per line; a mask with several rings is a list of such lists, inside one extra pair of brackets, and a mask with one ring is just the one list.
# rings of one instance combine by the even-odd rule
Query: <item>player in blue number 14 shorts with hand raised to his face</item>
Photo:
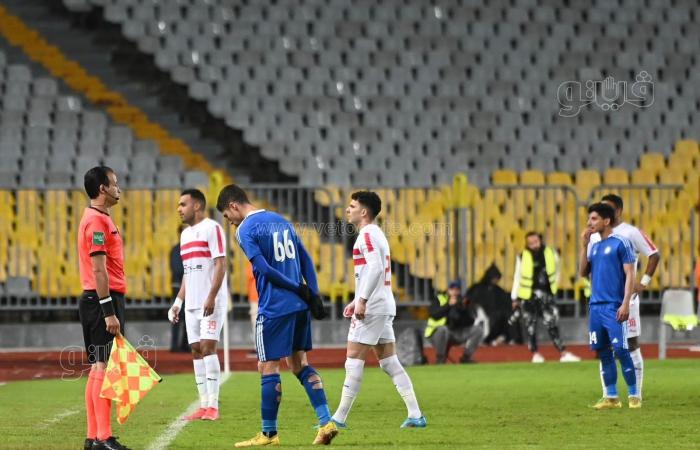
[[(632, 244), (613, 233), (615, 210), (605, 203), (588, 208), (588, 224), (582, 235), (579, 270), (582, 277), (590, 275), (591, 299), (589, 304), (589, 341), (600, 359), (600, 375), (605, 394), (593, 408), (621, 408), (617, 395), (617, 365), (620, 361), (622, 376), (627, 383), (629, 407), (641, 407), (637, 391), (634, 363), (627, 346), (627, 318), (634, 292), (634, 263), (636, 255)], [(593, 233), (601, 240), (590, 242)]]

